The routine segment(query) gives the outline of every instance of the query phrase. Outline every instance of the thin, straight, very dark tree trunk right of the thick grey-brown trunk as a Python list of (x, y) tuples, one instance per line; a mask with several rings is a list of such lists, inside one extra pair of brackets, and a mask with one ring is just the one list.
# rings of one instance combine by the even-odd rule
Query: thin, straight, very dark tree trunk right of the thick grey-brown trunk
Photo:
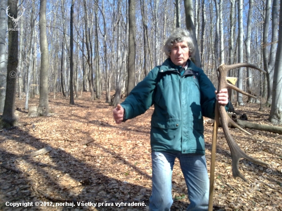
[(74, 0), (71, 2), (70, 11), (70, 104), (74, 105), (73, 98), (73, 7)]

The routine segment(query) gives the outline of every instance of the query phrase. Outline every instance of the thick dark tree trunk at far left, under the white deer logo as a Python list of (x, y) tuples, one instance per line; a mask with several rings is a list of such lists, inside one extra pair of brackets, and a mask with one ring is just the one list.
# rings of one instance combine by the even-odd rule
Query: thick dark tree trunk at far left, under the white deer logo
[[(8, 0), (10, 16), (17, 17), (17, 1)], [(14, 28), (11, 18), (8, 18), (8, 28)], [(15, 116), (16, 75), (18, 65), (18, 31), (9, 31), (7, 86), (1, 128), (11, 128), (17, 124)]]

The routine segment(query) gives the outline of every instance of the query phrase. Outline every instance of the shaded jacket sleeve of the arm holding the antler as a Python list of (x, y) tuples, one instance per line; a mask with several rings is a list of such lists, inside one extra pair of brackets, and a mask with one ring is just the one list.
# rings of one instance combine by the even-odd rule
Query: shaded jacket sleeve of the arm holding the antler
[[(203, 116), (209, 117), (211, 119), (214, 119), (215, 113), (215, 88), (208, 78), (208, 76), (204, 73), (204, 71), (200, 71), (199, 75), (199, 86), (200, 86), (200, 94), (201, 94), (201, 107)], [(229, 108), (229, 102), (225, 106), (225, 110), (227, 111)]]

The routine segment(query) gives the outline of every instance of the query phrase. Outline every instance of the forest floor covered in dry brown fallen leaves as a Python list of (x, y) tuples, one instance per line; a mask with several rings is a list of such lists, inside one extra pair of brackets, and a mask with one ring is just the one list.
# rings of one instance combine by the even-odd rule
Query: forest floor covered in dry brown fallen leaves
[[(61, 94), (56, 99), (50, 94), (51, 116), (36, 118), (27, 117), (25, 100), (16, 100), (19, 125), (0, 132), (0, 210), (149, 210), (153, 108), (115, 124), (105, 94), (94, 101), (89, 98), (90, 93), (83, 93), (70, 106)], [(29, 106), (38, 106), (38, 96)], [(247, 114), (248, 121), (269, 124), (270, 109), (258, 108), (246, 103), (235, 110)], [(212, 130), (206, 122), (208, 172)], [(282, 135), (247, 130), (252, 136), (230, 129), (241, 149), (270, 166), (241, 160), (239, 169), (248, 182), (234, 179), (229, 147), (219, 128), (214, 209), (282, 210)], [(15, 160), (47, 146), (51, 147), (47, 154)], [(189, 200), (178, 160), (172, 181), (171, 210), (185, 210)]]

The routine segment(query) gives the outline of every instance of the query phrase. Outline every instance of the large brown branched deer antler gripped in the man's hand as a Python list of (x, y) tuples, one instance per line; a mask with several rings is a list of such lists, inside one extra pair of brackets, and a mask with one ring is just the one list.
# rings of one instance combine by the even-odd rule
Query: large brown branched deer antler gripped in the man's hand
[[(217, 71), (219, 72), (219, 78), (218, 78), (218, 90), (221, 90), (223, 88), (232, 88), (235, 89), (239, 92), (241, 92), (242, 94), (247, 94), (248, 93), (244, 92), (243, 90), (238, 89), (235, 86), (231, 86), (230, 83), (228, 83), (226, 81), (226, 73), (227, 71), (233, 69), (233, 68), (239, 68), (239, 67), (249, 67), (249, 68), (253, 68), (256, 70), (259, 70), (261, 72), (264, 72), (264, 70), (256, 67), (255, 65), (251, 65), (248, 63), (239, 63), (239, 64), (234, 64), (234, 65), (220, 65), (217, 69)], [(253, 96), (255, 97), (255, 96)], [(238, 164), (239, 164), (239, 160), (240, 159), (247, 159), (250, 160), (252, 162), (255, 162), (257, 164), (261, 164), (261, 165), (269, 165), (268, 163), (252, 158), (250, 156), (248, 156), (245, 152), (243, 152), (240, 147), (237, 145), (237, 143), (235, 142), (235, 140), (233, 139), (233, 137), (231, 136), (229, 129), (228, 129), (228, 122), (232, 123), (234, 126), (236, 126), (237, 128), (240, 128), (227, 114), (225, 111), (224, 106), (219, 106), (218, 105), (218, 111), (219, 111), (219, 116), (221, 117), (221, 121), (222, 121), (222, 126), (223, 126), (223, 131), (224, 131), (224, 135), (225, 138), (227, 140), (230, 152), (231, 152), (231, 157), (232, 157), (232, 173), (233, 173), (233, 177), (240, 177), (241, 179), (243, 179), (244, 181), (247, 181), (247, 179), (240, 173), (239, 168), (238, 168)]]

